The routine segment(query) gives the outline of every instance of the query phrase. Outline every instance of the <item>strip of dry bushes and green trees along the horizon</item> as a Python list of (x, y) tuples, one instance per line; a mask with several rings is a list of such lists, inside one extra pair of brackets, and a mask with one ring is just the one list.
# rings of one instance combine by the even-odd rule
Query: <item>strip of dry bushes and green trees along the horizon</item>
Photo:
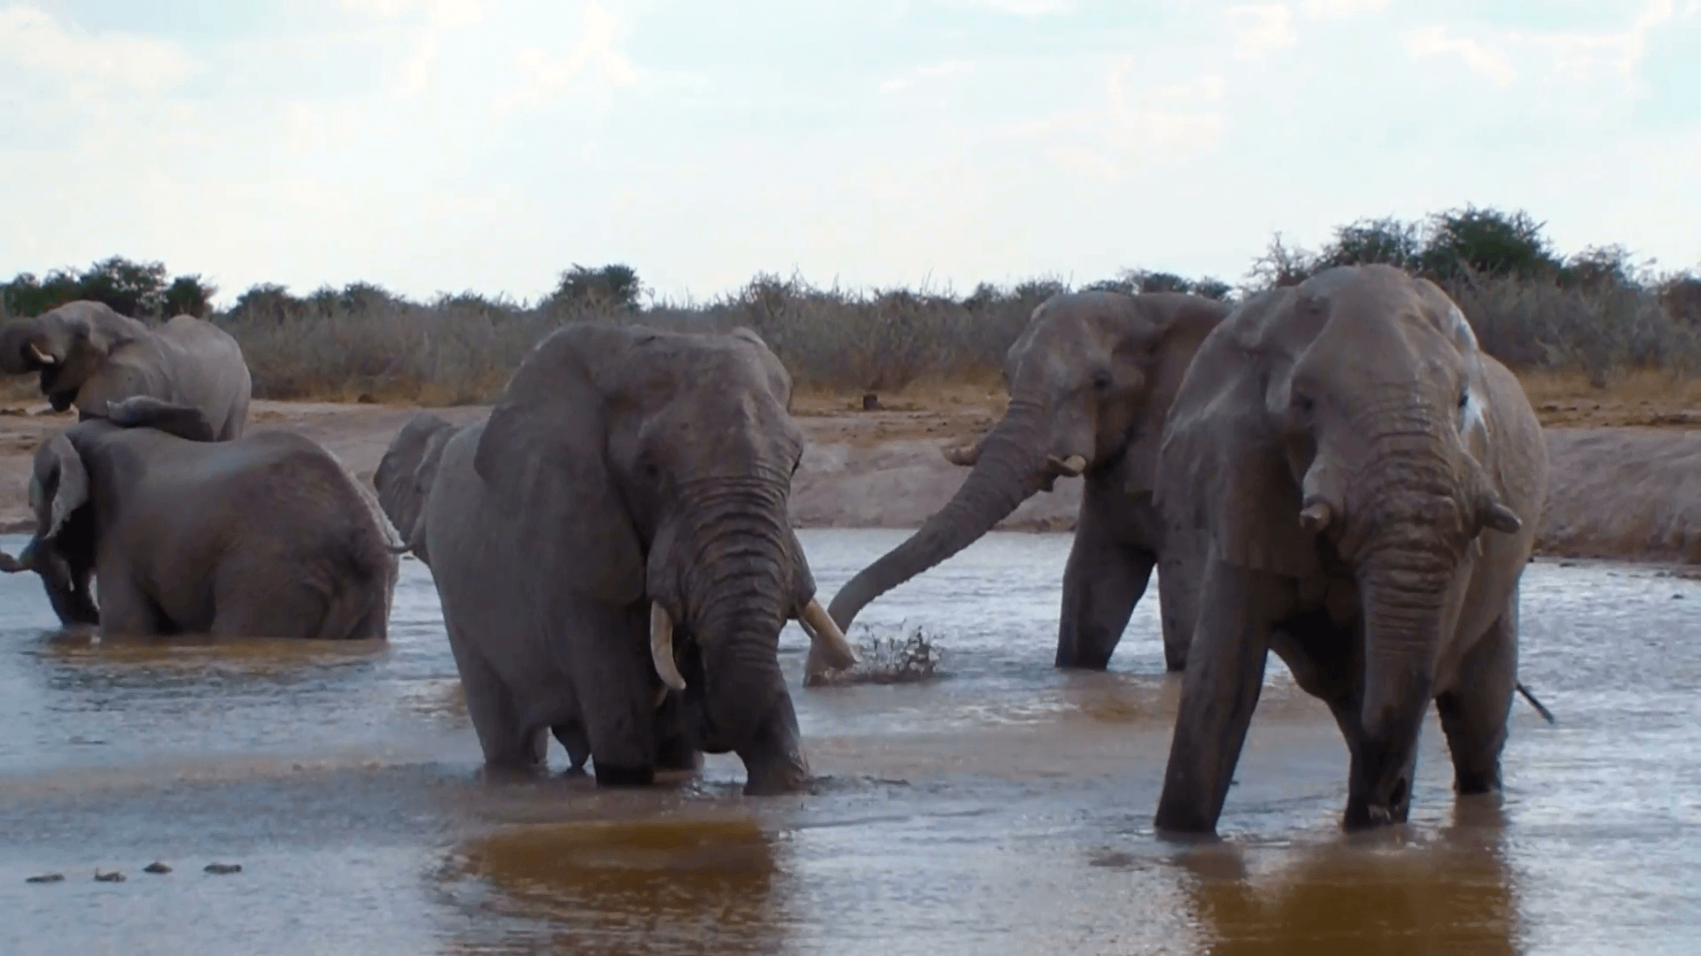
[[(1361, 219), (1317, 250), (1276, 235), (1238, 286), (1215, 277), (1128, 270), (1087, 287), (1180, 289), (1233, 299), (1303, 281), (1328, 265), (1386, 262), (1439, 282), (1483, 347), (1521, 373), (1585, 378), (1701, 376), (1701, 276), (1658, 274), (1619, 245), (1560, 255), (1529, 214), (1468, 206), (1419, 221)], [(112, 257), (88, 269), (0, 284), (0, 313), (36, 315), (77, 298), (158, 322), (191, 313), (228, 328), (253, 371), (255, 398), (476, 403), (495, 396), (521, 356), (568, 322), (757, 330), (803, 388), (896, 391), (915, 383), (997, 381), (1005, 349), (1055, 279), (968, 294), (847, 291), (762, 274), (704, 303), (648, 294), (628, 265), (566, 269), (539, 301), (439, 294), (410, 301), (354, 282), (304, 296), (260, 284), (214, 310), (216, 287), (163, 264)]]

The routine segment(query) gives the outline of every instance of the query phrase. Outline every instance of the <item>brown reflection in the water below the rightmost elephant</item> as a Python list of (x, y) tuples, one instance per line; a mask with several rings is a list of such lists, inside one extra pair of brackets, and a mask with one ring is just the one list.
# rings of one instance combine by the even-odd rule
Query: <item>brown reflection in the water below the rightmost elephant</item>
[(1493, 801), (1473, 798), (1429, 844), (1395, 832), (1291, 847), (1259, 876), (1249, 857), (1277, 854), (1216, 844), (1180, 862), (1213, 956), (1487, 956), (1521, 949), (1500, 840)]

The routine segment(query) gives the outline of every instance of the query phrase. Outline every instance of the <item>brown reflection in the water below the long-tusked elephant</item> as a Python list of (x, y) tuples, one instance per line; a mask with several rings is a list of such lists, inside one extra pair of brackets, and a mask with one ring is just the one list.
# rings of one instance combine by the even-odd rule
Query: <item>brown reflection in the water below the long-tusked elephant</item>
[(776, 847), (743, 815), (510, 827), (461, 844), (439, 879), (469, 917), (449, 953), (784, 951)]

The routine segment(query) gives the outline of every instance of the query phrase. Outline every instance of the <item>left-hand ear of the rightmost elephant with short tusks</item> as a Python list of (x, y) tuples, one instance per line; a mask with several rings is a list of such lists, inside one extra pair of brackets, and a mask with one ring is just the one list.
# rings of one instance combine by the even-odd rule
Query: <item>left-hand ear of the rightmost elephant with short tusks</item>
[(1291, 374), (1281, 325), (1293, 301), (1293, 289), (1264, 293), (1206, 337), (1170, 408), (1153, 497), (1167, 524), (1208, 531), (1223, 561), (1305, 577), (1317, 548), (1267, 407)]

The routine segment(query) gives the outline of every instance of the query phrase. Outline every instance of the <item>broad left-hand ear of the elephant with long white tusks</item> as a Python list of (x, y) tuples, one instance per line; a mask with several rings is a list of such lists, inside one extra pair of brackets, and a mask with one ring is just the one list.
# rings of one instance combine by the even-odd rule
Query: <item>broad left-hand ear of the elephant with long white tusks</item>
[(583, 568), (563, 583), (617, 606), (643, 597), (645, 556), (609, 469), (597, 376), (640, 339), (592, 323), (551, 333), (521, 361), (473, 454), (492, 493), (536, 532), (527, 553), (563, 573)]

